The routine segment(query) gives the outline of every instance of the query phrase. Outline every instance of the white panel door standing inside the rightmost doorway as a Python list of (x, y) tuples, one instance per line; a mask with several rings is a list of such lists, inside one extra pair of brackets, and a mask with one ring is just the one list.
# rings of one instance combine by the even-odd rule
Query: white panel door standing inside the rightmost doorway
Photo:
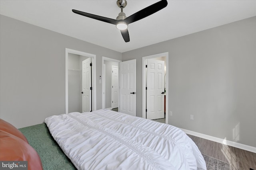
[(164, 61), (147, 60), (146, 118), (164, 118)]

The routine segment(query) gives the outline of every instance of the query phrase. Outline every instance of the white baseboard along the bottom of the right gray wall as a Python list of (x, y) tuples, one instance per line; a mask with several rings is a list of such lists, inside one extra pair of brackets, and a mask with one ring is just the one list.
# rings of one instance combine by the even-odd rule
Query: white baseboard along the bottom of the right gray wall
[(189, 135), (193, 135), (193, 136), (200, 137), (200, 138), (203, 138), (203, 139), (208, 139), (210, 141), (222, 143), (224, 145), (228, 145), (228, 146), (231, 146), (231, 147), (236, 147), (236, 148), (239, 148), (239, 149), (243, 149), (243, 150), (247, 150), (247, 151), (256, 153), (256, 147), (252, 147), (252, 146), (249, 146), (249, 145), (244, 145), (244, 144), (233, 142), (233, 141), (228, 141), (226, 139), (221, 139), (221, 138), (218, 138), (218, 137), (213, 137), (213, 136), (210, 136), (210, 135), (205, 135), (205, 134), (202, 134), (202, 133), (198, 133), (198, 132), (194, 132), (194, 131), (190, 131), (190, 130), (186, 130), (186, 129), (181, 129), (181, 130), (184, 131), (185, 133), (189, 134)]

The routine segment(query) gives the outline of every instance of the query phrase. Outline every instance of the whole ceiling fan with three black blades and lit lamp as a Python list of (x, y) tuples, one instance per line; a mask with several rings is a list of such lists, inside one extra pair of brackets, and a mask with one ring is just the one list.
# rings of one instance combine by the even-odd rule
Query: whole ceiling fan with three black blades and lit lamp
[(112, 18), (106, 18), (106, 17), (102, 17), (102, 16), (97, 16), (94, 14), (89, 14), (89, 13), (78, 11), (78, 10), (72, 10), (72, 11), (74, 13), (82, 15), (82, 16), (86, 16), (89, 18), (93, 18), (95, 20), (100, 20), (100, 21), (104, 21), (104, 22), (112, 23), (112, 24), (116, 25), (116, 28), (120, 29), (121, 34), (124, 38), (124, 41), (129, 42), (130, 37), (129, 37), (128, 29), (127, 29), (128, 24), (133, 23), (138, 20), (141, 20), (143, 18), (146, 18), (147, 16), (150, 16), (151, 14), (154, 14), (155, 12), (162, 10), (163, 8), (165, 8), (167, 6), (167, 0), (161, 0), (159, 2), (156, 2), (155, 4), (152, 4), (152, 5), (144, 8), (128, 17), (126, 17), (123, 12), (123, 8), (125, 8), (127, 5), (126, 0), (117, 0), (116, 4), (118, 5), (119, 8), (121, 8), (121, 12), (116, 17), (116, 20), (114, 20)]

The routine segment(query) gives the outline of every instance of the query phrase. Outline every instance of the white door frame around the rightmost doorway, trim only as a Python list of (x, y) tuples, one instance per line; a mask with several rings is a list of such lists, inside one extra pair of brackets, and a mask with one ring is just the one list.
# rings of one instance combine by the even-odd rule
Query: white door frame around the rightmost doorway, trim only
[(142, 117), (146, 119), (146, 60), (157, 57), (166, 57), (166, 114), (165, 123), (168, 124), (168, 52), (142, 57)]

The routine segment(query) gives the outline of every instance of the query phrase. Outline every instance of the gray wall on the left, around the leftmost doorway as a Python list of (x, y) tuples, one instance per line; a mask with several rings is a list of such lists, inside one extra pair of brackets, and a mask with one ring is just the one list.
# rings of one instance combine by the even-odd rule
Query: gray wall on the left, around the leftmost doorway
[(121, 60), (121, 53), (6, 16), (0, 21), (0, 118), (20, 128), (65, 113), (65, 48), (96, 55), (102, 108), (102, 56)]

